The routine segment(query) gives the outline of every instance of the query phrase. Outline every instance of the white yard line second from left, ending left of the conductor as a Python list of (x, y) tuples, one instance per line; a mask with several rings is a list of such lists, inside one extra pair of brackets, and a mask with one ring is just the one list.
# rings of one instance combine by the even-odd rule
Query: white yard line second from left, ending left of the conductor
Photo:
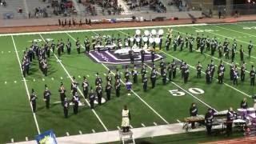
[[(39, 35), (40, 35), (40, 37), (43, 39), (43, 41), (46, 42), (46, 40), (42, 37), (42, 35), (41, 35), (41, 34), (39, 34)], [(54, 57), (55, 57), (56, 59), (58, 59), (58, 57), (57, 57), (56, 54), (54, 54)], [(62, 64), (61, 61), (58, 61), (58, 63), (62, 66), (63, 70), (66, 72), (66, 74), (69, 76), (69, 78), (70, 78), (70, 80), (71, 80), (71, 82), (72, 82), (72, 81), (73, 81), (73, 78), (71, 77), (70, 73), (66, 70), (65, 66)], [(85, 98), (85, 96), (82, 94), (82, 91), (81, 91), (79, 88), (78, 88), (78, 91), (79, 91), (79, 93), (82, 95), (82, 97), (85, 99), (87, 105), (90, 106), (90, 103), (89, 103), (88, 100)], [(98, 118), (98, 121), (102, 124), (103, 128), (104, 128), (106, 131), (108, 131), (108, 129), (106, 128), (105, 124), (102, 122), (102, 119), (99, 118), (99, 116), (98, 116), (98, 114), (96, 113), (96, 111), (95, 111), (94, 109), (91, 109), (91, 110), (93, 111), (94, 115)]]

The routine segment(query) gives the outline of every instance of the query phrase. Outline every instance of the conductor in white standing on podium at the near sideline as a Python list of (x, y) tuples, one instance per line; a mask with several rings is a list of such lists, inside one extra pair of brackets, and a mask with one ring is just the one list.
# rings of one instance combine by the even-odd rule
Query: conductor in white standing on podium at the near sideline
[(122, 132), (129, 132), (130, 128), (130, 111), (127, 109), (127, 106), (124, 106), (122, 110)]

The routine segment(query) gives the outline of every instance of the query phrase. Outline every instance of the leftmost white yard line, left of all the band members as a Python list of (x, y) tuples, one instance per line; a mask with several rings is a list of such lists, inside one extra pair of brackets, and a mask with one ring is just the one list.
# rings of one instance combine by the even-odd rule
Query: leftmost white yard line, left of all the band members
[[(13, 40), (13, 43), (14, 43), (14, 49), (15, 49), (15, 51), (17, 51), (17, 47), (16, 47), (16, 43), (15, 43), (15, 41), (14, 41), (14, 37), (11, 36), (11, 39)], [(19, 68), (20, 68), (21, 74), (22, 74), (22, 63), (21, 63), (21, 61), (20, 61), (20, 59), (19, 59), (19, 57), (18, 57), (18, 53), (17, 53), (17, 52), (16, 52), (16, 56), (17, 56)], [(30, 102), (30, 92), (29, 92), (28, 86), (27, 86), (27, 84), (26, 84), (26, 78), (23, 76), (23, 74), (22, 74), (22, 78), (23, 78), (23, 80), (24, 80), (23, 82), (24, 82), (24, 86), (25, 86), (25, 88), (26, 88), (27, 98), (28, 98), (28, 100), (29, 100), (29, 102)], [(31, 111), (32, 111), (32, 114), (33, 114), (33, 117), (34, 117), (34, 123), (35, 123), (35, 126), (37, 127), (38, 134), (41, 134), (41, 133), (40, 133), (39, 126), (38, 126), (38, 120), (37, 120), (36, 115), (35, 115), (34, 112), (33, 112), (32, 103), (31, 103), (31, 102), (30, 102), (30, 108), (31, 108)]]

